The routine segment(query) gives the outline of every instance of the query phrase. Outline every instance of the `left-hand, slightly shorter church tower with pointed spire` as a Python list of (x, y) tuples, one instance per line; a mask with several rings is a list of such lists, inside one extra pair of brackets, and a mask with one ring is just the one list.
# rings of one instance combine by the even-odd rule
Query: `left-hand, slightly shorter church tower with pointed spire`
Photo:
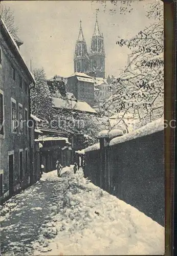
[(87, 73), (90, 69), (90, 60), (87, 53), (86, 42), (83, 37), (82, 24), (80, 20), (79, 36), (76, 41), (74, 52), (74, 72)]

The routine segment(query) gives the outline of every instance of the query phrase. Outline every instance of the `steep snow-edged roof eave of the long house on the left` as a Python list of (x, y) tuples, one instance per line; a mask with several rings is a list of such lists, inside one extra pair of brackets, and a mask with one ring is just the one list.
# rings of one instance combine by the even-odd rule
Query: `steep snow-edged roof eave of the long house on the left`
[(4, 29), (4, 30), (6, 31), (6, 33), (8, 34), (9, 38), (10, 38), (11, 41), (12, 41), (13, 46), (15, 47), (15, 50), (16, 50), (16, 52), (17, 52), (17, 54), (18, 54), (18, 57), (19, 57), (20, 60), (23, 62), (23, 65), (25, 66), (25, 68), (26, 68), (26, 70), (27, 70), (27, 72), (28, 72), (28, 74), (29, 74), (31, 80), (35, 83), (35, 78), (34, 78), (33, 74), (32, 74), (31, 71), (29, 70), (29, 68), (28, 68), (28, 66), (27, 66), (27, 64), (26, 64), (26, 62), (25, 62), (23, 56), (21, 55), (21, 53), (20, 53), (20, 51), (19, 51), (19, 48), (18, 48), (18, 46), (17, 46), (17, 44), (16, 44), (16, 42), (15, 42), (15, 39), (13, 38), (13, 36), (12, 36), (12, 35), (10, 34), (10, 32), (8, 31), (8, 29), (7, 29), (7, 27), (6, 27), (6, 24), (5, 24), (5, 22), (4, 22), (4, 20), (3, 20), (2, 18), (0, 18), (0, 23), (2, 23), (2, 25), (0, 24), (1, 29)]

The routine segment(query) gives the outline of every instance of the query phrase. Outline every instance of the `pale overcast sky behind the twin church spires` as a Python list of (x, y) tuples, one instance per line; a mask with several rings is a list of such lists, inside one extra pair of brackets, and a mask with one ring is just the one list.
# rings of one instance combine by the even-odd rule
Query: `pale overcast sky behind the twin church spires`
[[(152, 1), (152, 0), (151, 0)], [(119, 6), (107, 1), (104, 6), (97, 1), (5, 1), (6, 6), (14, 12), (18, 36), (24, 41), (20, 47), (28, 66), (43, 67), (47, 78), (55, 74), (70, 76), (74, 73), (73, 56), (75, 42), (78, 38), (80, 19), (84, 38), (90, 48), (90, 39), (94, 32), (96, 9), (98, 23), (105, 42), (105, 72), (118, 75), (126, 65), (129, 50), (116, 45), (121, 38), (131, 38), (150, 20), (145, 16), (148, 1), (135, 1), (134, 10), (120, 14)], [(113, 14), (109, 9), (116, 9)]]

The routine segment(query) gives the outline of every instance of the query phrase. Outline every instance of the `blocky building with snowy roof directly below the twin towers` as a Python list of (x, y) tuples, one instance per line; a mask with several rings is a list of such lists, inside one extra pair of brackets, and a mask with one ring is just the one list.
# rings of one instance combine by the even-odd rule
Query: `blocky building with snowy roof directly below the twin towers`
[(67, 79), (67, 92), (73, 93), (78, 100), (94, 105), (94, 79), (84, 73), (75, 72)]

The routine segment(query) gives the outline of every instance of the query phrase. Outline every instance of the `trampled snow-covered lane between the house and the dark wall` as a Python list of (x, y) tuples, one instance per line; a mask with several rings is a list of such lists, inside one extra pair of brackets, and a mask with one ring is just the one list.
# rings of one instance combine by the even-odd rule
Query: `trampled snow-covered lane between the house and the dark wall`
[(1, 214), (2, 255), (164, 254), (164, 228), (72, 169), (43, 174)]

